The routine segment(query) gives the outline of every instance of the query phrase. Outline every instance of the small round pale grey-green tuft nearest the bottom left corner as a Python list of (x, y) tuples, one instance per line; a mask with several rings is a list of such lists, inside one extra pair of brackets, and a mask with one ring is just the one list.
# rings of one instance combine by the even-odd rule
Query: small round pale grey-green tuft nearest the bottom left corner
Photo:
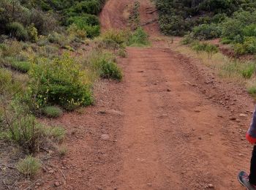
[(26, 156), (25, 159), (20, 159), (16, 167), (20, 173), (26, 175), (26, 177), (31, 177), (39, 172), (41, 162), (30, 155)]

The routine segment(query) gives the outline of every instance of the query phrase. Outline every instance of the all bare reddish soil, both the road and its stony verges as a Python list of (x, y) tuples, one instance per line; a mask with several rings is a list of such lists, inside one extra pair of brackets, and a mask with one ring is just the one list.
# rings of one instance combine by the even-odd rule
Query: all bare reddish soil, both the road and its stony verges
[[(125, 25), (129, 2), (107, 2), (103, 30)], [(140, 2), (141, 19), (154, 19), (151, 2)], [(156, 23), (146, 31), (160, 37)], [(168, 46), (128, 47), (118, 60), (124, 81), (99, 83), (94, 106), (45, 121), (66, 127), (69, 151), (61, 161), (52, 155), (37, 188), (243, 189), (236, 175), (249, 169), (253, 100)]]

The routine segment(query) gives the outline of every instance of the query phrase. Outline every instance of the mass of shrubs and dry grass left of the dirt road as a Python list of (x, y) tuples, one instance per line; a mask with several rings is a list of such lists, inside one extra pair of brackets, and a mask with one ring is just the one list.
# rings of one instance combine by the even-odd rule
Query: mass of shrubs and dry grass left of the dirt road
[(67, 153), (61, 145), (65, 129), (38, 118), (58, 118), (93, 104), (97, 80), (122, 80), (116, 56), (125, 57), (127, 46), (149, 45), (147, 34), (138, 27), (138, 3), (131, 13), (136, 18), (132, 29), (99, 34), (97, 15), (103, 4), (0, 1), (0, 142), (19, 148), (21, 156), (10, 161), (23, 158), (16, 168), (26, 177), (39, 172), (42, 160), (35, 157), (40, 150)]

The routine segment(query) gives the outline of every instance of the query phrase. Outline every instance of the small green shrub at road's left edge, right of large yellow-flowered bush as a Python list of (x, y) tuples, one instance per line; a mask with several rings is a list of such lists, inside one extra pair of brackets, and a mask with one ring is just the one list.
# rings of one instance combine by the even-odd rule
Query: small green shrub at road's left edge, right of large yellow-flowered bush
[(102, 61), (102, 73), (100, 77), (121, 80), (123, 75), (121, 69), (112, 61)]

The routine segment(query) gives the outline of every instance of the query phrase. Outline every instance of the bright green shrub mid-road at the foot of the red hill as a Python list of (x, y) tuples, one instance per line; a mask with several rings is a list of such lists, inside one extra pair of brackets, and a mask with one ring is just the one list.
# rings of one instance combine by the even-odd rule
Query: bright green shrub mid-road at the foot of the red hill
[(149, 45), (148, 34), (146, 34), (143, 28), (137, 28), (136, 31), (132, 32), (132, 34), (129, 36), (127, 44), (129, 46)]

